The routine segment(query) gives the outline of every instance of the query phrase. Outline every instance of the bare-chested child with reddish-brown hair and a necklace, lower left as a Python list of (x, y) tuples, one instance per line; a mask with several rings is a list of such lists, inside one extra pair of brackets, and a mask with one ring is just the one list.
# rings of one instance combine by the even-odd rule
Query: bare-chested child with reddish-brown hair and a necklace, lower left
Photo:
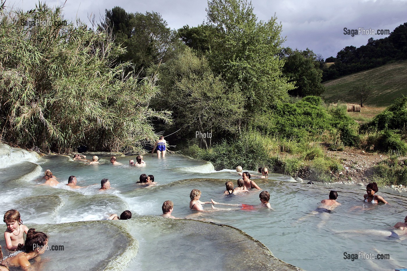
[(4, 232), (7, 249), (10, 251), (20, 249), (24, 245), (24, 232), (26, 234), (28, 232), (28, 227), (21, 221), (20, 213), (17, 210), (8, 210), (3, 221), (7, 226)]

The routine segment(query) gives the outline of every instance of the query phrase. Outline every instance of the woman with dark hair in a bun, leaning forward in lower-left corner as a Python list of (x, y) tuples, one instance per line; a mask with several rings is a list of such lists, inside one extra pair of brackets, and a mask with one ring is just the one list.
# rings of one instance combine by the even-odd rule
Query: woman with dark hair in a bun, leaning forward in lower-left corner
[(3, 258), (3, 264), (15, 267), (29, 267), (29, 260), (45, 252), (48, 244), (48, 236), (44, 232), (36, 232), (35, 229), (29, 229), (27, 232), (24, 249), (15, 251)]

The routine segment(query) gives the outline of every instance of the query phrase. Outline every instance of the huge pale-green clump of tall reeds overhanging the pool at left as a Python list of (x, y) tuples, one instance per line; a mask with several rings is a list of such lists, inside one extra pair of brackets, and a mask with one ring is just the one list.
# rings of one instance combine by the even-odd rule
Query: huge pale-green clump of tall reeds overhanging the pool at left
[[(35, 19), (52, 24), (21, 23)], [(125, 50), (109, 33), (62, 20), (46, 4), (0, 14), (0, 139), (43, 152), (142, 152), (157, 137), (151, 119), (169, 121), (149, 107), (156, 78), (123, 76), (131, 63), (113, 65)]]

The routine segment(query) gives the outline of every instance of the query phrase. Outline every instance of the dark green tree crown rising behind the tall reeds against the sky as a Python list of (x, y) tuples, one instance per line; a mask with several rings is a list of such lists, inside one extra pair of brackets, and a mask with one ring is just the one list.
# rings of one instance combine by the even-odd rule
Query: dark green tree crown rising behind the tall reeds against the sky
[(127, 13), (120, 7), (106, 10), (106, 25), (112, 28), (116, 44), (126, 47), (119, 61), (132, 61), (140, 76), (150, 66), (165, 62), (173, 56), (177, 45), (175, 32), (156, 12)]

